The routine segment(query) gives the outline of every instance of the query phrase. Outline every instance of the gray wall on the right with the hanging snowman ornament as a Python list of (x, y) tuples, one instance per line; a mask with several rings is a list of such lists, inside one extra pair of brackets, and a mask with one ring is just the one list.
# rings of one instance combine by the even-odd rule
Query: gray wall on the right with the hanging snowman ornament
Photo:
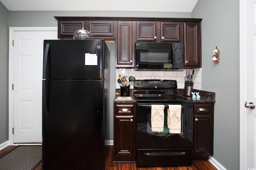
[[(239, 0), (198, 0), (193, 18), (202, 20), (202, 90), (216, 92), (214, 158), (239, 169)], [(218, 45), (220, 62), (211, 61)]]

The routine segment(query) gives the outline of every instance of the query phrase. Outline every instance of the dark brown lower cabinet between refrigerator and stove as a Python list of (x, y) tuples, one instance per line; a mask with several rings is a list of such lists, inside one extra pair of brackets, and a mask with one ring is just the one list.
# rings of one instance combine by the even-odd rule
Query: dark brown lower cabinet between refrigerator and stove
[(135, 161), (136, 103), (114, 103), (114, 161)]

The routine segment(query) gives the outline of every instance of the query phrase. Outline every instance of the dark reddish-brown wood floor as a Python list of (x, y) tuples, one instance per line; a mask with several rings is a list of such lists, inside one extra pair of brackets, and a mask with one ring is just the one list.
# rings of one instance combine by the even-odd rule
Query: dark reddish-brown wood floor
[[(0, 150), (0, 156), (6, 154), (17, 146), (8, 146)], [(135, 162), (113, 162), (112, 156), (113, 146), (110, 146), (110, 152), (106, 163), (106, 170), (217, 170), (209, 161), (193, 161), (192, 166), (183, 167), (154, 167), (154, 168), (138, 168)], [(42, 170), (40, 163), (35, 170)]]

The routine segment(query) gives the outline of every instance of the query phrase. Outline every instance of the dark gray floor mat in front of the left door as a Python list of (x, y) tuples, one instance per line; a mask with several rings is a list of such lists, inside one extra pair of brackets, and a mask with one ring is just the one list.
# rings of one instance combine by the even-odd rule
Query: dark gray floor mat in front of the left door
[(0, 157), (0, 170), (34, 170), (42, 160), (42, 146), (18, 146)]

